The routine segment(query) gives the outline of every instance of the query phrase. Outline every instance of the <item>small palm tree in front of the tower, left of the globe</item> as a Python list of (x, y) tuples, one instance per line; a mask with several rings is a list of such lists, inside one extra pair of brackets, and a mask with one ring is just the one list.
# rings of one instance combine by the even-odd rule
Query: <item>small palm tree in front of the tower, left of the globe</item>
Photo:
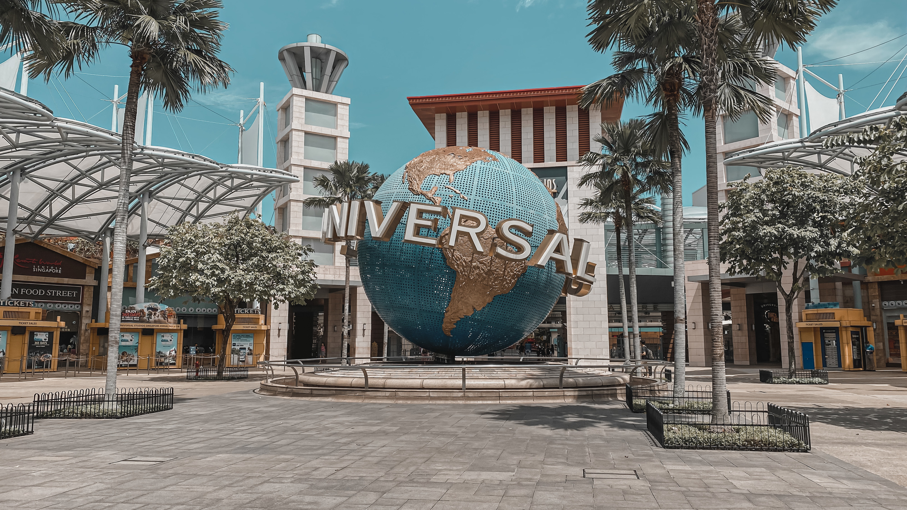
[[(322, 191), (321, 197), (310, 197), (302, 201), (305, 207), (325, 208), (334, 204), (351, 202), (359, 198), (375, 197), (375, 192), (385, 182), (385, 176), (368, 171), (368, 163), (357, 161), (335, 161), (327, 167), (330, 174), (320, 174), (312, 179), (315, 188)], [(344, 252), (346, 272), (343, 293), (343, 342), (340, 357), (349, 356), (349, 250)], [(347, 360), (348, 361), (348, 360)]]

